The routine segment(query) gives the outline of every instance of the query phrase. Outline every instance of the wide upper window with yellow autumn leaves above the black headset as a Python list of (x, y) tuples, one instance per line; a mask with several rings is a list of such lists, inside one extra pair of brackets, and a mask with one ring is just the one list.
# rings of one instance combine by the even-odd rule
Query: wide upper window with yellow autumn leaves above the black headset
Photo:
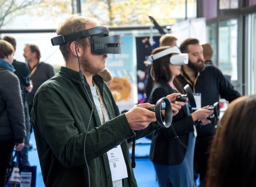
[[(187, 10), (186, 10), (187, 8)], [(99, 17), (108, 26), (149, 25), (150, 14), (160, 25), (196, 17), (196, 0), (83, 0), (82, 15)]]

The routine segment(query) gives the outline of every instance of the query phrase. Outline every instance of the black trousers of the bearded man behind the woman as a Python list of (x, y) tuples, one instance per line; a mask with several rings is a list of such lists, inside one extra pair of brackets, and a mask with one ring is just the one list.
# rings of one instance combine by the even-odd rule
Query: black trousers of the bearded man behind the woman
[(207, 172), (209, 149), (212, 143), (212, 136), (197, 136), (195, 141), (194, 167), (195, 176), (200, 174), (200, 187), (204, 186), (204, 178)]

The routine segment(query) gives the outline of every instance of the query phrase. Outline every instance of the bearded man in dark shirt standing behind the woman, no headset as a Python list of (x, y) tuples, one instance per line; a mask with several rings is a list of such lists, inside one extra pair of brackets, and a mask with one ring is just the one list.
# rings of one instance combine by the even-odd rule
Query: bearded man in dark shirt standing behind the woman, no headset
[[(180, 51), (189, 54), (189, 63), (183, 65), (177, 79), (182, 85), (189, 84), (194, 92), (197, 108), (213, 105), (219, 96), (229, 102), (240, 96), (221, 71), (214, 65), (205, 65), (203, 48), (195, 38), (188, 38), (180, 44)], [(195, 143), (195, 167), (200, 174), (201, 185), (207, 170), (208, 147), (215, 133), (215, 125), (208, 120), (207, 125), (197, 128), (198, 136)]]

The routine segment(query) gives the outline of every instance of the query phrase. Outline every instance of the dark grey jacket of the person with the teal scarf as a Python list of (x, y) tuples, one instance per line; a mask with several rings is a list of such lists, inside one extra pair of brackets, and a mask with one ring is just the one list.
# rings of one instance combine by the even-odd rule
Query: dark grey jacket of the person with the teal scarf
[(15, 143), (22, 143), (25, 129), (19, 79), (0, 68), (0, 141), (15, 139)]

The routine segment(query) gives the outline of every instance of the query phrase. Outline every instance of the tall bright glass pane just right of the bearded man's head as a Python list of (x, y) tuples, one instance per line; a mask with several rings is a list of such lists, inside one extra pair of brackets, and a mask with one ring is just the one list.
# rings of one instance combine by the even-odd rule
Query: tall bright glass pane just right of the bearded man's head
[(224, 75), (231, 76), (231, 80), (233, 81), (238, 79), (237, 34), (237, 19), (225, 20), (220, 22), (218, 39), (219, 68), (221, 69)]

